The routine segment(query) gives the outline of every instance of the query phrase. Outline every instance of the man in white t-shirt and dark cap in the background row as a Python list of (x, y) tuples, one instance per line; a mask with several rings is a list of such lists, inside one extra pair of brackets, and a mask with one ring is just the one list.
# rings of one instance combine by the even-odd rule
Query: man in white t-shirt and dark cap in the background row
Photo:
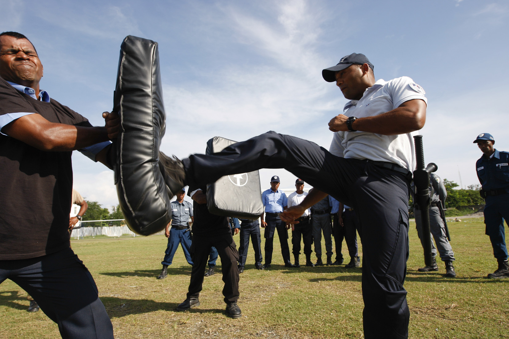
[[(296, 191), (288, 196), (288, 207), (296, 206), (304, 200), (307, 192), (304, 192), (304, 180), (295, 180)], [(313, 243), (313, 228), (309, 223), (310, 210), (307, 208), (304, 213), (297, 219), (298, 224), (292, 225), (292, 253), (295, 259), (295, 267), (300, 267), (300, 238), (304, 241), (304, 254), (306, 256), (306, 266), (314, 267), (315, 264), (311, 261), (311, 244)]]

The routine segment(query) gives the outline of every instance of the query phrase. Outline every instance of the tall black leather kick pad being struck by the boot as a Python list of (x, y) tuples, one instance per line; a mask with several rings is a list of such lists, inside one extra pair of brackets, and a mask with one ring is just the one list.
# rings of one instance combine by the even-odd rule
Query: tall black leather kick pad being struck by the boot
[(129, 229), (149, 235), (169, 223), (169, 199), (159, 170), (164, 113), (157, 42), (127, 36), (120, 47), (114, 110), (123, 132), (114, 141), (115, 183)]

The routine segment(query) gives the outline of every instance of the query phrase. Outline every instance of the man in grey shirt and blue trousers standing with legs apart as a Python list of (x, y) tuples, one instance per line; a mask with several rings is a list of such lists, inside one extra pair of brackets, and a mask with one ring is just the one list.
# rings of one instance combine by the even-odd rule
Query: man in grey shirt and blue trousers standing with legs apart
[[(167, 268), (172, 264), (173, 256), (179, 247), (179, 243), (182, 244), (182, 250), (186, 256), (187, 263), (192, 265), (191, 260), (191, 232), (189, 228), (189, 217), (191, 222), (193, 221), (192, 204), (184, 200), (186, 190), (182, 189), (177, 193), (177, 200), (172, 201), (170, 206), (172, 208), (172, 221), (166, 225), (164, 235), (168, 238), (168, 245), (166, 252), (164, 252), (164, 259), (162, 260), (161, 274), (157, 279), (164, 279), (168, 275)], [(170, 229), (171, 227), (171, 229)]]

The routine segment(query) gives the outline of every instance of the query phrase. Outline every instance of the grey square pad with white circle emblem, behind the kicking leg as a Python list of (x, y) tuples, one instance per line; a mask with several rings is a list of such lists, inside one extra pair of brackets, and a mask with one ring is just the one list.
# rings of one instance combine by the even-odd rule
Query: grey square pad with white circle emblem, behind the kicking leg
[[(207, 142), (206, 154), (217, 153), (236, 141), (214, 137)], [(258, 171), (226, 175), (207, 186), (209, 212), (224, 217), (258, 219), (264, 208)]]

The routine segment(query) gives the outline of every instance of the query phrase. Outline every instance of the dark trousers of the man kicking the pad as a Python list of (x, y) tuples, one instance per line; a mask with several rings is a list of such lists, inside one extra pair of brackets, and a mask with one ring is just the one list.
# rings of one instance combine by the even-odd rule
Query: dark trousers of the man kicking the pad
[(268, 132), (213, 155), (183, 160), (186, 180), (197, 186), (223, 175), (285, 168), (311, 186), (355, 208), (362, 225), (364, 337), (408, 337), (403, 288), (408, 259), (408, 178), (371, 161), (333, 156), (296, 137)]

